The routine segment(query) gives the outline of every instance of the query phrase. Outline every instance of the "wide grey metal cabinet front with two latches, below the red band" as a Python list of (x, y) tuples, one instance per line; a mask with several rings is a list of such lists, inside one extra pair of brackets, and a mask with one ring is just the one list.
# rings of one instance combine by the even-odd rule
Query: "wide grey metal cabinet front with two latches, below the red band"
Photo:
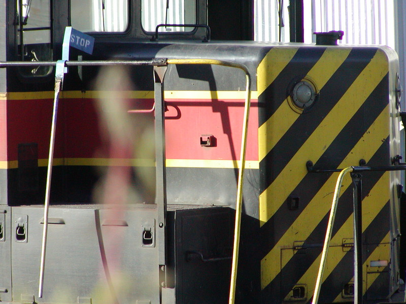
[(44, 295), (38, 299), (43, 209), (13, 207), (13, 217), (28, 215), (29, 228), (22, 243), (12, 227), (14, 301), (159, 303), (157, 248), (142, 246), (142, 224), (155, 219), (156, 210), (97, 208), (50, 208)]

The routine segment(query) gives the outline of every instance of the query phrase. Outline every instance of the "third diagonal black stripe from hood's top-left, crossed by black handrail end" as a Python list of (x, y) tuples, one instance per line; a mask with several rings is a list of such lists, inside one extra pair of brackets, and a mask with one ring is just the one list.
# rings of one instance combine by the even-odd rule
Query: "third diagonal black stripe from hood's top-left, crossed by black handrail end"
[[(387, 81), (388, 79), (385, 77), (368, 97), (366, 102), (358, 109), (349, 123), (326, 149), (319, 161), (315, 163), (316, 168), (336, 168), (342, 163), (351, 149), (386, 107), (387, 100), (385, 98), (387, 98), (388, 92), (386, 86)], [(375, 103), (373, 107), (370, 106), (371, 102)], [(382, 149), (382, 147), (380, 149)], [(386, 151), (380, 159), (376, 160), (378, 163), (374, 165), (388, 165), (382, 163), (382, 160), (389, 160), (388, 153), (389, 151)], [(374, 161), (370, 160), (370, 162)], [(297, 210), (289, 210), (287, 203), (284, 203), (274, 216), (261, 227), (260, 238), (261, 240), (267, 240), (261, 248), (262, 257), (275, 246), (300, 213), (306, 209), (309, 202), (330, 176), (331, 173), (308, 173), (292, 192), (292, 196), (299, 197), (299, 208)], [(331, 189), (331, 191), (333, 191), (333, 189)], [(341, 207), (339, 214), (341, 212), (340, 210)]]

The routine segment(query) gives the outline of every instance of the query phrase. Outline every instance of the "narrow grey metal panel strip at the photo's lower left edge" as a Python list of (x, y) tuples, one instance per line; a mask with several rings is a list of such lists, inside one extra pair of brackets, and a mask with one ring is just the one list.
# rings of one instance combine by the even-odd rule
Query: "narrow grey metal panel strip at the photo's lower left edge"
[[(0, 224), (3, 236), (0, 237), (0, 301), (11, 301), (11, 208), (0, 207)], [(7, 292), (5, 292), (7, 290)]]

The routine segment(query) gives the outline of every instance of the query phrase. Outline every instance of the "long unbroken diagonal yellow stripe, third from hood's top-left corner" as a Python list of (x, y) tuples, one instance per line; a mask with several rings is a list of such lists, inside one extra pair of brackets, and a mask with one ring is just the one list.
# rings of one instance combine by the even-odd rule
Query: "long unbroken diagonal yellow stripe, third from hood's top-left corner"
[(374, 58), (360, 73), (340, 101), (331, 109), (318, 128), (299, 148), (279, 176), (260, 194), (259, 219), (261, 225), (274, 215), (292, 190), (306, 176), (306, 162), (308, 160), (314, 163), (318, 161), (325, 149), (381, 82), (388, 72), (388, 64), (385, 60), (386, 56), (383, 51), (378, 50)]

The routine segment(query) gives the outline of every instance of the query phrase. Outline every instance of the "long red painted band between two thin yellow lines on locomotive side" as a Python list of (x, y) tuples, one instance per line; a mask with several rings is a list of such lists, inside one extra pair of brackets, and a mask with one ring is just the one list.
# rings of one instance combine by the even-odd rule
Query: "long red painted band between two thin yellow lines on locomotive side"
[[(242, 136), (244, 100), (167, 99), (165, 113), (166, 157), (168, 159), (238, 160)], [(114, 100), (112, 102), (115, 102)], [(150, 108), (151, 99), (126, 101), (124, 109)], [(5, 104), (0, 103), (0, 115)], [(7, 103), (8, 142), (0, 143), (4, 159), (17, 160), (18, 143), (37, 142), (39, 158), (48, 157), (53, 100), (10, 100)], [(105, 158), (109, 138), (93, 99), (61, 99), (59, 101), (55, 158)], [(114, 117), (114, 113), (109, 113)], [(122, 113), (123, 114), (123, 113)], [(124, 113), (117, 118), (128, 119), (127, 131), (134, 144), (141, 144), (145, 128), (153, 127), (152, 113)], [(0, 116), (1, 119), (1, 116)], [(5, 132), (2, 122), (3, 130)], [(101, 127), (101, 129), (99, 129)], [(128, 131), (129, 130), (129, 131)], [(133, 130), (133, 131), (132, 131)], [(216, 145), (200, 145), (200, 136), (210, 134)], [(1, 133), (0, 133), (1, 135)], [(8, 157), (6, 151), (8, 150)], [(3, 151), (2, 151), (3, 149)], [(134, 158), (142, 156), (134, 155)], [(247, 160), (258, 160), (258, 108), (254, 101), (250, 111)]]

